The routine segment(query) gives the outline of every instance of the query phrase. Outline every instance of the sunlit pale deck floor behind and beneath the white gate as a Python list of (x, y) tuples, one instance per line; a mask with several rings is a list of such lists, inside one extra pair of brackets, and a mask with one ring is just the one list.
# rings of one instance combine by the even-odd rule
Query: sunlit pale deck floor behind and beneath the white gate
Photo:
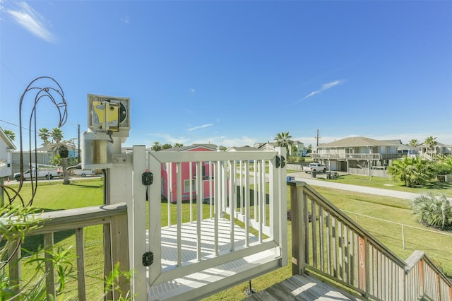
[[(182, 225), (182, 266), (197, 264), (197, 262), (205, 262), (208, 258), (215, 257), (215, 241), (213, 237), (214, 221), (203, 220), (201, 224), (201, 261), (197, 260), (197, 231), (196, 223), (186, 223)], [(219, 254), (227, 254), (231, 249), (242, 249), (245, 246), (246, 233), (244, 228), (234, 225), (234, 248), (231, 247), (231, 225), (226, 219), (219, 220), (218, 227), (218, 252)], [(257, 242), (258, 238), (249, 233), (249, 243)], [(177, 269), (177, 227), (162, 228), (162, 270), (171, 271)], [(256, 266), (266, 266), (271, 261), (275, 261), (278, 257), (275, 249), (237, 258), (226, 264), (206, 268), (188, 276), (173, 279), (158, 285), (152, 285), (148, 288), (148, 300), (191, 300), (197, 299), (193, 297), (192, 290), (218, 290), (218, 284), (215, 283), (234, 283), (234, 278), (238, 273), (246, 271), (248, 268), (256, 269)], [(265, 273), (265, 271), (261, 271)], [(254, 277), (251, 277), (254, 278)], [(206, 286), (206, 288), (202, 288)], [(196, 293), (195, 293), (196, 295)], [(204, 293), (203, 295), (208, 295)]]

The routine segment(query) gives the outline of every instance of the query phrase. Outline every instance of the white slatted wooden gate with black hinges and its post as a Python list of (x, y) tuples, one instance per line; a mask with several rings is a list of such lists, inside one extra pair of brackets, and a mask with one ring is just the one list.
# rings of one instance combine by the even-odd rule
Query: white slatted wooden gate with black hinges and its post
[[(131, 253), (138, 300), (145, 300), (143, 293), (148, 300), (198, 299), (287, 264), (282, 153), (285, 148), (242, 152), (133, 148)], [(147, 170), (153, 174), (150, 186), (140, 183)]]

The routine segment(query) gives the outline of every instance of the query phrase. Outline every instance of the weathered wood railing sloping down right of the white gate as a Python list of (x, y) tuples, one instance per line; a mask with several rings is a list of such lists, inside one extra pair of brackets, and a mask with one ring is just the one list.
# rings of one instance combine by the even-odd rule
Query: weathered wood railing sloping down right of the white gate
[(452, 300), (452, 283), (422, 252), (405, 262), (304, 182), (288, 182), (292, 273), (306, 269), (377, 300)]

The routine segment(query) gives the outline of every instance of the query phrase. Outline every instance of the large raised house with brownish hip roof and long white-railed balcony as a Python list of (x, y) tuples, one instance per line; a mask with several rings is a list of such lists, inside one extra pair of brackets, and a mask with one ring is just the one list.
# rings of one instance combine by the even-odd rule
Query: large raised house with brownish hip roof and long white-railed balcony
[[(380, 170), (401, 158), (400, 140), (375, 140), (367, 137), (349, 137), (323, 143), (311, 156), (328, 165), (330, 170), (353, 173), (352, 169)], [(370, 173), (370, 172), (368, 172)]]

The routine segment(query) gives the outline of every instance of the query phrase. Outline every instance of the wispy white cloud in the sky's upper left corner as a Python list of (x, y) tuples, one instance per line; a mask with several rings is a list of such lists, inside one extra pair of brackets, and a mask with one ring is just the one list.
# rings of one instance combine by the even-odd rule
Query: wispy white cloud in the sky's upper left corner
[(47, 42), (53, 42), (54, 36), (44, 25), (44, 18), (26, 2), (19, 2), (18, 9), (7, 9), (6, 12), (23, 28)]

